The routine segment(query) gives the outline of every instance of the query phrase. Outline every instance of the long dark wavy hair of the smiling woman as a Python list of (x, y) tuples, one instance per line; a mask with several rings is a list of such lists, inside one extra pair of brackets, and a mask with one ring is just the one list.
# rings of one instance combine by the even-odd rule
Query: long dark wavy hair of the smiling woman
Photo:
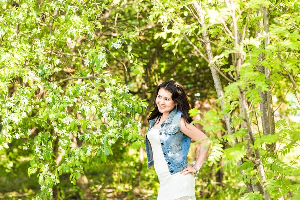
[[(160, 84), (157, 87), (156, 98), (161, 88), (164, 88), (166, 91), (172, 93), (172, 100), (174, 101), (175, 104), (177, 104), (177, 109), (183, 113), (183, 118), (185, 119), (185, 121), (191, 123), (193, 120), (188, 114), (188, 111), (190, 110), (190, 106), (188, 103), (187, 95), (182, 85), (179, 82), (176, 82), (175, 80), (165, 81), (164, 83)], [(174, 109), (176, 109), (176, 107)], [(156, 117), (158, 117), (158, 120), (160, 121), (161, 116), (162, 113), (159, 112), (155, 100), (154, 110), (150, 114), (148, 121), (151, 119), (155, 119)]]

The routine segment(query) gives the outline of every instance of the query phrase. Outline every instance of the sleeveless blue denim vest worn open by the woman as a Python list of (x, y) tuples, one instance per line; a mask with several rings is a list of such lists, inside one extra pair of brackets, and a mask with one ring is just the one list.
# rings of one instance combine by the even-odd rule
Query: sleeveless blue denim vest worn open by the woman
[[(187, 168), (186, 159), (191, 138), (180, 132), (180, 119), (182, 112), (173, 109), (166, 120), (160, 124), (159, 140), (168, 169), (172, 174)], [(153, 127), (157, 118), (150, 120), (147, 134)], [(148, 168), (154, 164), (151, 143), (146, 135), (145, 146), (148, 158)]]

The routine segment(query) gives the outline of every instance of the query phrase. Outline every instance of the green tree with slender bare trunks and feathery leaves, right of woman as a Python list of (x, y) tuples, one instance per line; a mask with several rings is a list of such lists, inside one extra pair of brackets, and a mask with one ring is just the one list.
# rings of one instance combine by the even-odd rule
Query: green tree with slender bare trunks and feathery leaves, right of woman
[[(299, 166), (294, 165), (296, 160), (284, 163), (282, 155), (287, 151), (279, 147), (285, 144), (289, 150), (295, 149), (299, 129), (290, 132), (296, 123), (283, 125), (283, 117), (276, 121), (275, 131), (273, 110), (277, 106), (275, 110), (288, 115), (298, 110), (295, 106), (280, 107), (291, 85), (299, 102), (297, 76), (293, 75), (299, 71), (299, 38), (295, 36), (298, 2), (154, 0), (153, 4), (152, 19), (163, 25), (164, 31), (158, 35), (166, 38), (164, 46), (174, 46), (176, 53), (181, 41), (186, 40), (207, 61), (213, 75), (228, 134), (216, 138), (208, 160), (215, 163), (223, 159), (224, 168), (237, 162), (238, 181), (245, 184), (241, 192), (249, 192), (244, 198), (298, 196), (298, 184), (283, 171), (293, 170), (297, 175)], [(222, 83), (219, 75), (226, 81)], [(274, 97), (281, 103), (274, 105)], [(211, 113), (207, 114), (206, 118), (211, 118)], [(217, 114), (213, 117), (216, 121), (219, 118)], [(209, 126), (207, 119), (199, 122), (206, 130), (219, 129)], [(230, 145), (224, 150), (219, 142)]]

